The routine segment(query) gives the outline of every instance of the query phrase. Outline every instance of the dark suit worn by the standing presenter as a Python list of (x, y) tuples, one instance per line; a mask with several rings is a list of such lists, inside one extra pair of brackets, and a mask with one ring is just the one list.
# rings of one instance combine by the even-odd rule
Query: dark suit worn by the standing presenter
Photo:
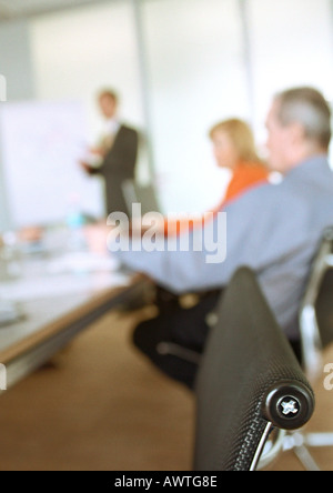
[(122, 184), (125, 180), (134, 179), (138, 148), (139, 134), (137, 130), (121, 125), (101, 167), (89, 170), (91, 174), (100, 174), (105, 181), (108, 215), (112, 212), (124, 212), (129, 217), (131, 215), (124, 200)]

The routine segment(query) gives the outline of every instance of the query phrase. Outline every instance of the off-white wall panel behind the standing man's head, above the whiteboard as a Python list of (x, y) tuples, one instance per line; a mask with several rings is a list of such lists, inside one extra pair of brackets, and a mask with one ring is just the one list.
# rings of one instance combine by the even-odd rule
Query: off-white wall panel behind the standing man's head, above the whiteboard
[(39, 99), (77, 98), (87, 109), (91, 134), (100, 128), (95, 94), (111, 87), (120, 114), (142, 127), (140, 67), (132, 2), (110, 2), (36, 18), (30, 23)]

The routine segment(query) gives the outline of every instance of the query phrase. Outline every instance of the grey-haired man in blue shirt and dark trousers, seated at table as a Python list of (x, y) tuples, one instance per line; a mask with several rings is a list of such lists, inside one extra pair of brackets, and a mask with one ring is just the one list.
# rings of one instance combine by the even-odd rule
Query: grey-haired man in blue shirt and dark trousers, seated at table
[[(201, 250), (160, 248), (148, 252), (133, 240), (129, 250), (115, 254), (124, 265), (176, 293), (223, 290), (234, 272), (248, 265), (256, 272), (286, 336), (296, 343), (297, 314), (311, 263), (324, 229), (333, 223), (331, 109), (315, 89), (286, 90), (273, 99), (266, 128), (270, 165), (283, 174), (283, 180), (258, 187), (226, 205), (226, 238), (219, 235), (216, 243), (216, 249), (226, 243), (226, 255), (219, 262), (209, 261), (211, 251), (203, 241)], [(219, 218), (200, 231), (201, 238), (216, 229), (219, 233)], [(196, 232), (191, 234), (190, 245)], [(198, 365), (161, 353), (160, 343), (201, 353), (210, 330), (206, 315), (218, 298), (213, 293), (193, 309), (141, 323), (134, 331), (135, 345), (168, 375), (193, 388)]]

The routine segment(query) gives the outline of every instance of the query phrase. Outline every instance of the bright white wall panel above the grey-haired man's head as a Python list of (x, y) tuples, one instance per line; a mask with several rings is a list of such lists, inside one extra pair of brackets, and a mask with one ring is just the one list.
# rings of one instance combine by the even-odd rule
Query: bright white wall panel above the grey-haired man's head
[(333, 102), (333, 10), (331, 0), (251, 0), (254, 121), (259, 139), (272, 95), (314, 85)]

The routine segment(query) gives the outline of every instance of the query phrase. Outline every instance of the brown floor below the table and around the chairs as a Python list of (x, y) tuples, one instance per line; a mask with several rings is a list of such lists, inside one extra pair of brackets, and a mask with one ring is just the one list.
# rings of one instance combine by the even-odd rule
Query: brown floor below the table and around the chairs
[[(1, 471), (191, 469), (192, 394), (135, 352), (133, 324), (133, 316), (104, 316), (54, 364), (1, 395)], [(333, 351), (327, 361), (333, 363)], [(333, 432), (333, 391), (322, 381), (316, 394), (311, 427)], [(333, 470), (333, 449), (315, 456), (323, 470)], [(270, 470), (302, 466), (285, 453)]]

